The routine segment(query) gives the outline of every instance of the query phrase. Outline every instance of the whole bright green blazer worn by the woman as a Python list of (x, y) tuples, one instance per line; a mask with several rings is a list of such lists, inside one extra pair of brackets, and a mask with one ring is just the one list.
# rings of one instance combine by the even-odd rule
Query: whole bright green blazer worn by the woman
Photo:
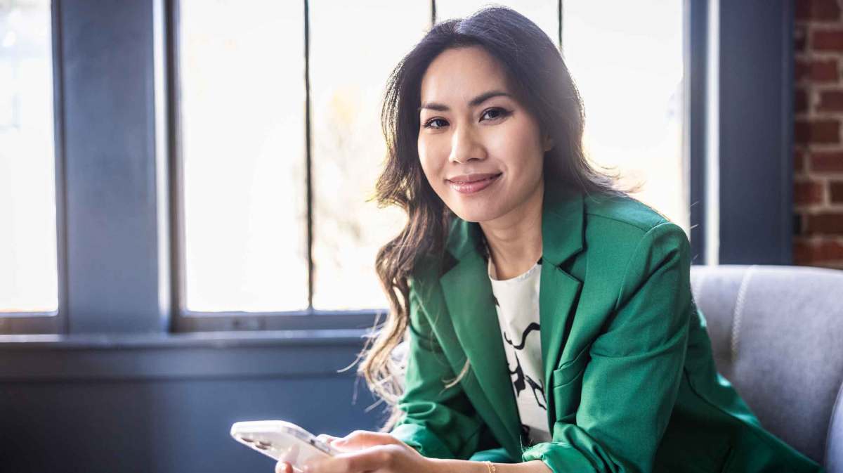
[[(717, 374), (685, 232), (630, 198), (545, 191), (540, 340), (552, 442), (526, 445), (481, 252), (459, 218), (410, 282), (405, 417), (436, 458), (543, 460), (557, 473), (821, 471)], [(470, 368), (453, 387), (444, 384)]]

